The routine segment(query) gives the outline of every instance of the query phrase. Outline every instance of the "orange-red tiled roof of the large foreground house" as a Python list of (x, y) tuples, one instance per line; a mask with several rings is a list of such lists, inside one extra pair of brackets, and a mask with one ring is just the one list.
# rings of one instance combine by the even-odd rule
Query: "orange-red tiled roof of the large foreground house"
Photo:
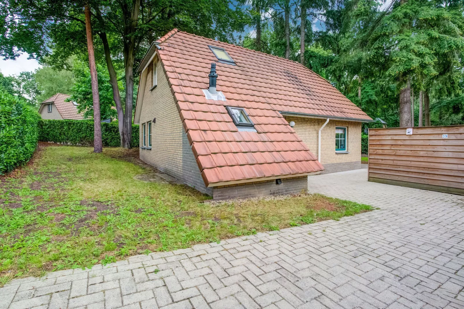
[[(208, 45), (224, 48), (237, 65), (220, 63)], [(138, 71), (154, 52), (207, 187), (323, 169), (281, 112), (371, 120), (329, 82), (294, 61), (174, 29), (150, 46)], [(206, 100), (202, 91), (208, 88), (212, 62), (217, 90), (226, 101)], [(135, 123), (141, 103), (137, 97)], [(226, 106), (245, 108), (258, 133), (238, 131)]]

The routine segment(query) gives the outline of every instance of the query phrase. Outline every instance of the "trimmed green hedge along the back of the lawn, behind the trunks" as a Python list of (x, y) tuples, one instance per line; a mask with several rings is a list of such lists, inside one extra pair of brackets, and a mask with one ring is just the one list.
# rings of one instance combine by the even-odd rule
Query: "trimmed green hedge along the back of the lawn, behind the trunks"
[[(39, 121), (39, 141), (66, 145), (93, 146), (93, 120)], [(119, 129), (116, 121), (102, 122), (103, 147), (119, 147)], [(139, 126), (132, 125), (132, 147), (139, 147)]]

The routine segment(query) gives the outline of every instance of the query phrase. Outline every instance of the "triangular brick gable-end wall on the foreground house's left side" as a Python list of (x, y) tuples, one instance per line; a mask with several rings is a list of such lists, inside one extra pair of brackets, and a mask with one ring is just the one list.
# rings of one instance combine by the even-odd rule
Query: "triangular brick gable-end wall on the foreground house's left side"
[(140, 148), (140, 159), (196, 188), (212, 195), (213, 189), (205, 188), (200, 169), (182, 126), (168, 79), (160, 62), (157, 64), (157, 86), (152, 87), (152, 71), (148, 70), (140, 113), (140, 147), (143, 146), (143, 123), (146, 125), (148, 146), (148, 122), (152, 123), (151, 150)]

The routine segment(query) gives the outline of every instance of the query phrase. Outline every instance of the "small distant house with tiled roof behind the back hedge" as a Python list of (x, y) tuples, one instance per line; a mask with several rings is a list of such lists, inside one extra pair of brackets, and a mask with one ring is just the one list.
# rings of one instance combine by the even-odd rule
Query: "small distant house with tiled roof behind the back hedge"
[(57, 93), (40, 104), (39, 114), (42, 119), (82, 120), (84, 117), (77, 112), (77, 104), (66, 102), (71, 96)]

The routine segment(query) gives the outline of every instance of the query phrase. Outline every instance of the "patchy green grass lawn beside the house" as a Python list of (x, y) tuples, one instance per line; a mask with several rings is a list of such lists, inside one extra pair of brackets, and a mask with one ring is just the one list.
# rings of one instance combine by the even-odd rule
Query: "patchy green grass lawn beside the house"
[(22, 172), (0, 178), (0, 285), (372, 209), (317, 194), (211, 205), (190, 187), (134, 178), (155, 172), (138, 149), (92, 150), (43, 147)]

